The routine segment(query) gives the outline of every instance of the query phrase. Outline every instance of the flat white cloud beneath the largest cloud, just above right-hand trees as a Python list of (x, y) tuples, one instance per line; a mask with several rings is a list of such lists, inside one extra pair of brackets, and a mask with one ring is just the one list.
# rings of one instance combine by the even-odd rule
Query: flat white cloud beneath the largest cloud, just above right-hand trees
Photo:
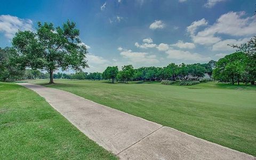
[(229, 45), (239, 45), (239, 44), (242, 44), (242, 43), (246, 43), (249, 41), (250, 38), (243, 38), (243, 39), (225, 39), (224, 41), (220, 41), (218, 43), (215, 43), (213, 46), (212, 46), (212, 51), (235, 51), (235, 49), (231, 46), (228, 46)]

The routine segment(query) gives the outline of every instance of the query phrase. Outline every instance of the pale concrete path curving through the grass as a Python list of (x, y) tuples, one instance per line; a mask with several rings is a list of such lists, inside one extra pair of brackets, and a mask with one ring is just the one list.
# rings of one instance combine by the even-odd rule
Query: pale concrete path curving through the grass
[(86, 100), (73, 93), (19, 83), (35, 91), (87, 137), (121, 159), (254, 159), (255, 157), (196, 138)]

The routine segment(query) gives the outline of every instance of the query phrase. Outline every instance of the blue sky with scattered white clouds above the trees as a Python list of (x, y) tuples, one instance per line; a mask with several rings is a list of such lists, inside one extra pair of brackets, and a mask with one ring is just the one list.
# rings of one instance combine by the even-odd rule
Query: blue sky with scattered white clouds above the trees
[(75, 21), (90, 46), (85, 71), (132, 64), (218, 60), (256, 34), (256, 2), (250, 0), (2, 1), (0, 47), (36, 22)]

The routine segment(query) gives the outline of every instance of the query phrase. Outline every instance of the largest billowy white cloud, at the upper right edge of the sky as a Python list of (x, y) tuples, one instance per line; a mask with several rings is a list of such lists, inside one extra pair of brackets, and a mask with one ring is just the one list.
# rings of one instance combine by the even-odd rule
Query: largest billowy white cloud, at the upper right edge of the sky
[(228, 12), (220, 16), (217, 21), (207, 26), (205, 29), (196, 30), (199, 26), (206, 26), (208, 23), (205, 19), (195, 21), (187, 27), (194, 43), (210, 45), (221, 41), (219, 35), (229, 36), (250, 36), (256, 34), (256, 19), (254, 16), (243, 18), (245, 12)]

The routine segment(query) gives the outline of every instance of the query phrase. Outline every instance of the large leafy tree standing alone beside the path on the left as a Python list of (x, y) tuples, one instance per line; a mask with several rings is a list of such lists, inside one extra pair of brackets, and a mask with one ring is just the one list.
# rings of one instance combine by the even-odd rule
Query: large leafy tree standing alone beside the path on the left
[(53, 71), (59, 68), (81, 71), (88, 67), (86, 46), (79, 39), (76, 23), (67, 21), (61, 27), (47, 22), (37, 25), (35, 32), (18, 31), (12, 39), (20, 66), (47, 70), (50, 83), (53, 83)]

